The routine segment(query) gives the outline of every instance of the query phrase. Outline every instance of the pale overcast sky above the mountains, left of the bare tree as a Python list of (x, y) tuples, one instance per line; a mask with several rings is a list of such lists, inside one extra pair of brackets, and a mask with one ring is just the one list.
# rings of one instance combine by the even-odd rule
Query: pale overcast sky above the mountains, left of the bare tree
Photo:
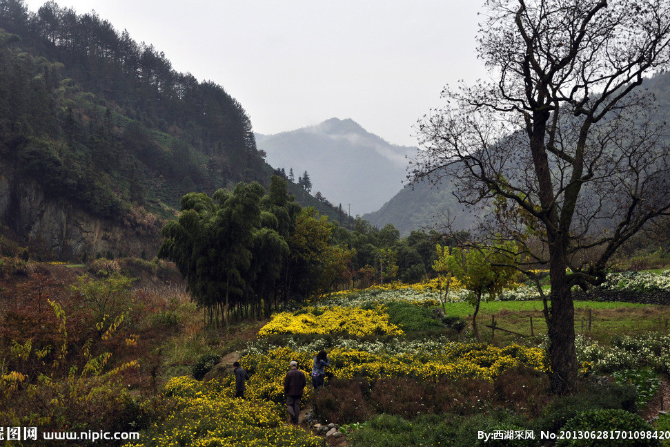
[[(351, 118), (395, 144), (475, 57), (479, 0), (56, 0), (95, 10), (235, 97), (258, 133)], [(37, 11), (45, 3), (28, 0)]]

